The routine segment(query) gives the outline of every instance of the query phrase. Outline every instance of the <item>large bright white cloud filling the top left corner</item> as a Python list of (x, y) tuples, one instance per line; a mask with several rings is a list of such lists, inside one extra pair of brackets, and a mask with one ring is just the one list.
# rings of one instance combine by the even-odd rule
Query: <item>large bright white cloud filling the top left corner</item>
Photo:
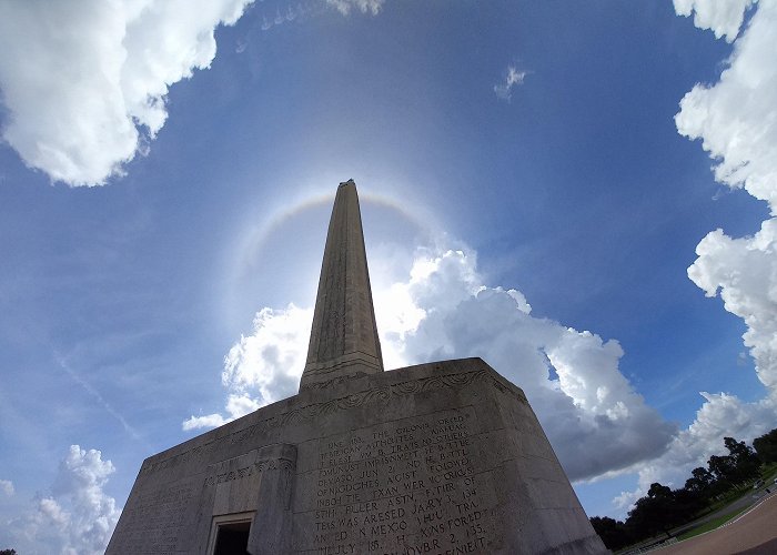
[(148, 149), (171, 84), (210, 67), (250, 0), (0, 4), (3, 139), (53, 181), (99, 185)]

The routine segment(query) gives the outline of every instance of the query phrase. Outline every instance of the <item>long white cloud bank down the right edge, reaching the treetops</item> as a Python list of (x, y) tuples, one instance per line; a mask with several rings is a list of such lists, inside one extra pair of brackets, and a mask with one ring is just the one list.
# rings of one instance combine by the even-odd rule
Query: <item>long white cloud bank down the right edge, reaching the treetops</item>
[[(777, 2), (761, 0), (739, 34), (745, 11), (755, 2), (675, 0), (680, 16), (695, 11), (694, 22), (717, 38), (734, 42), (734, 53), (717, 83), (697, 84), (680, 101), (677, 130), (702, 140), (715, 160), (716, 181), (745, 189), (777, 206), (777, 68), (770, 52), (777, 41)], [(737, 38), (738, 37), (738, 38)], [(626, 511), (650, 483), (680, 487), (695, 466), (724, 453), (723, 437), (751, 441), (774, 427), (777, 411), (777, 221), (763, 222), (753, 236), (734, 239), (723, 230), (707, 234), (696, 248), (688, 276), (707, 296), (720, 295), (724, 307), (747, 325), (743, 339), (768, 395), (747, 403), (735, 395), (700, 392), (702, 407), (660, 457), (638, 466), (639, 487), (615, 500)]]

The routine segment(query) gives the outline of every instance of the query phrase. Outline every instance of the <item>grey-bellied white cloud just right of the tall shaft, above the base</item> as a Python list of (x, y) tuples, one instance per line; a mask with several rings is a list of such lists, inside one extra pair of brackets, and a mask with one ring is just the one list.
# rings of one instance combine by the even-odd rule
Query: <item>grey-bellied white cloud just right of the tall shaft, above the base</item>
[(524, 390), (572, 480), (663, 452), (675, 427), (620, 374), (616, 341), (532, 316), (519, 292), (483, 285), (467, 252), (422, 253), (418, 268), (410, 290), (426, 315), (402, 341), (406, 363), (483, 357)]

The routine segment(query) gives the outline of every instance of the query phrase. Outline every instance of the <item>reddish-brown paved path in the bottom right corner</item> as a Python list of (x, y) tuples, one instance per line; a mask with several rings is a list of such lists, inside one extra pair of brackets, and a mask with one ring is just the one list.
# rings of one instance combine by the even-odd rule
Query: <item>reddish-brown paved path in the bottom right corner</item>
[(775, 554), (777, 553), (777, 495), (769, 496), (726, 526), (654, 553), (659, 555)]

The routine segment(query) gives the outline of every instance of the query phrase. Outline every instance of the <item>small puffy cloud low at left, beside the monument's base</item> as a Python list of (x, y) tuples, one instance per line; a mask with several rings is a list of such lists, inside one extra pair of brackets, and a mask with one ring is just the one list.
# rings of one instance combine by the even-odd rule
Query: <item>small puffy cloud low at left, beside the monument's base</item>
[(99, 554), (105, 551), (121, 511), (103, 487), (115, 468), (95, 450), (71, 445), (60, 463), (51, 494), (14, 524), (26, 539), (48, 553)]

